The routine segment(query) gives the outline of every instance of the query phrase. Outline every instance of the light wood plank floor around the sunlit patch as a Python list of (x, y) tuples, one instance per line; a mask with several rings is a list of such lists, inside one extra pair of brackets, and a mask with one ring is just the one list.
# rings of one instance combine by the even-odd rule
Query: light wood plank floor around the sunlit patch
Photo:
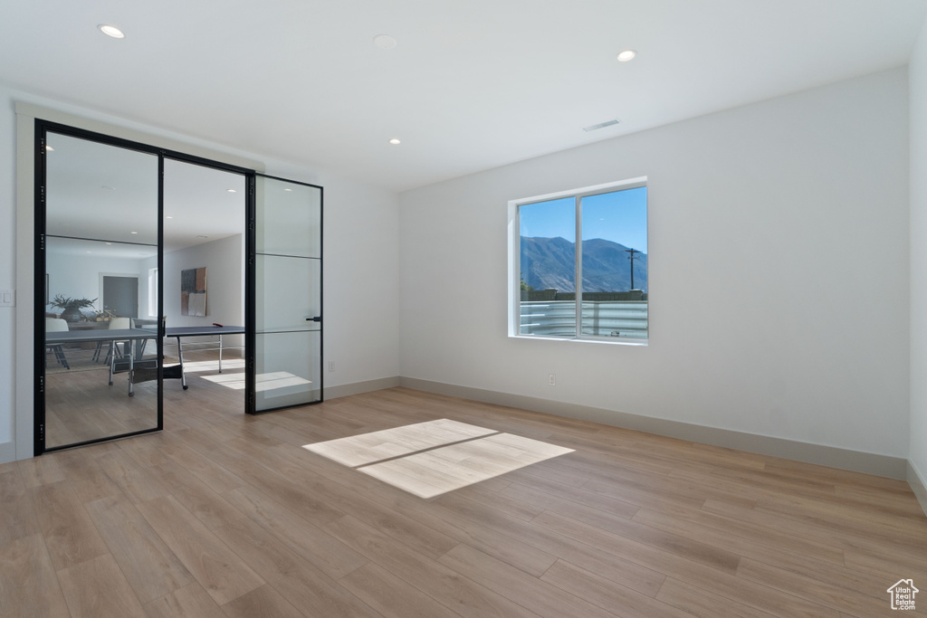
[[(179, 392), (174, 393), (173, 390)], [(905, 483), (395, 388), (0, 465), (0, 616), (927, 614)], [(303, 445), (450, 419), (574, 452), (417, 498)]]

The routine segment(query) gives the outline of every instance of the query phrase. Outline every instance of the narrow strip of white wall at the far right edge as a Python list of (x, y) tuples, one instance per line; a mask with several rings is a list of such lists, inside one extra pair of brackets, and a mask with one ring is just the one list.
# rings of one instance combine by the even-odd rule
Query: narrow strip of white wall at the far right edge
[[(927, 23), (911, 57), (911, 466), (927, 485)], [(925, 507), (927, 508), (927, 507)]]

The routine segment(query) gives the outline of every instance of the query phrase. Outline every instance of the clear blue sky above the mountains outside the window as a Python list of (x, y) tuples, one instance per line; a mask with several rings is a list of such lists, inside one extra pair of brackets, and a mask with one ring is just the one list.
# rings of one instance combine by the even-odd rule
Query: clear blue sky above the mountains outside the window
[[(520, 209), (521, 235), (576, 239), (573, 197)], [(603, 238), (647, 253), (647, 187), (582, 199), (582, 239)]]

